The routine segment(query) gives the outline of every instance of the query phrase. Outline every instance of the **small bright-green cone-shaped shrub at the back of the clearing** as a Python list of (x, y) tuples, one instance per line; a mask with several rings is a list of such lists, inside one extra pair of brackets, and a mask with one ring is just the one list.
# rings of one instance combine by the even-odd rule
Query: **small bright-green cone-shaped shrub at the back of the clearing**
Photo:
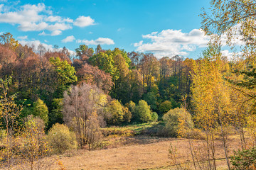
[(146, 101), (140, 100), (138, 106), (134, 109), (134, 120), (147, 123), (151, 120), (150, 106)]

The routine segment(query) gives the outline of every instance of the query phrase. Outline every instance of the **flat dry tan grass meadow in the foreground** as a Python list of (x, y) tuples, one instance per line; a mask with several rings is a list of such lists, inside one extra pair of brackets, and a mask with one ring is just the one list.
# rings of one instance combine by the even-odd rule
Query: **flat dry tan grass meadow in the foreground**
[[(235, 137), (230, 140), (230, 151), (238, 149), (239, 141)], [(187, 139), (159, 137), (127, 137), (124, 146), (109, 149), (87, 151), (85, 149), (71, 154), (72, 157), (51, 157), (63, 162), (66, 169), (175, 169), (170, 165), (170, 143), (178, 149), (178, 161), (188, 159), (189, 149)], [(201, 140), (195, 140), (195, 146), (203, 146)], [(222, 144), (216, 142), (218, 169), (225, 169), (225, 159)], [(70, 155), (69, 155), (70, 156)], [(192, 165), (191, 165), (192, 166)], [(52, 169), (57, 169), (55, 165)]]

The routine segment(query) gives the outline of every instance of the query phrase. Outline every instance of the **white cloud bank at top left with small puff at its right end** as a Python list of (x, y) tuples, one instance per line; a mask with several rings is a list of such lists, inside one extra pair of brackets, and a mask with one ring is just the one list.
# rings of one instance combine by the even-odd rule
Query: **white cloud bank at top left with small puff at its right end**
[(90, 16), (79, 16), (73, 21), (70, 18), (54, 16), (50, 7), (43, 3), (26, 4), (17, 6), (16, 10), (11, 11), (10, 8), (0, 4), (0, 23), (10, 23), (18, 25), (21, 31), (48, 31), (39, 35), (60, 35), (63, 30), (72, 29), (73, 25), (79, 27), (95, 25), (95, 20)]

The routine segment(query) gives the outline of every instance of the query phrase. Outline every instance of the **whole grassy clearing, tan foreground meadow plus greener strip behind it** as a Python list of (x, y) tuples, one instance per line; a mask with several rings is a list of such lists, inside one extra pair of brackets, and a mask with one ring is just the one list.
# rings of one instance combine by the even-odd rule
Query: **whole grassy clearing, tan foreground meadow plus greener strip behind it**
[[(50, 169), (60, 169), (62, 162), (66, 170), (76, 169), (176, 169), (169, 158), (170, 146), (176, 148), (176, 162), (193, 169), (189, 144), (197, 148), (201, 157), (206, 157), (203, 150), (206, 143), (203, 140), (188, 140), (170, 137), (152, 136), (150, 132), (161, 128), (161, 123), (144, 123), (124, 127), (104, 128), (102, 147), (96, 150), (78, 149), (65, 152), (63, 155), (53, 155), (47, 159), (55, 163)], [(228, 140), (230, 154), (240, 148), (240, 140), (233, 135)], [(223, 144), (215, 141), (215, 151), (218, 169), (227, 169)], [(199, 155), (198, 154), (198, 155)], [(185, 164), (184, 164), (185, 163)]]

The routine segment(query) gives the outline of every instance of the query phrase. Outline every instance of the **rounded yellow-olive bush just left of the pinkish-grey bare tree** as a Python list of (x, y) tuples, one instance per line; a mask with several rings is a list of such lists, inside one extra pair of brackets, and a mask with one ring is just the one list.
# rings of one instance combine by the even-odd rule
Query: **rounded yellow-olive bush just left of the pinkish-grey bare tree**
[(75, 133), (70, 132), (68, 126), (59, 123), (50, 128), (47, 140), (49, 145), (53, 147), (53, 152), (57, 154), (77, 147)]

